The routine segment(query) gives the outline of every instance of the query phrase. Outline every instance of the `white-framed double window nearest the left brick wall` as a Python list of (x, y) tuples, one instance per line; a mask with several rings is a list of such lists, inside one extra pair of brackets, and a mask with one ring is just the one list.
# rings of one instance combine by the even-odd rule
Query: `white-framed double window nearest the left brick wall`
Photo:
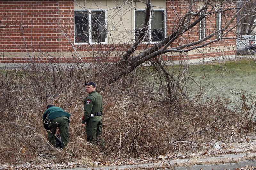
[(106, 11), (75, 10), (75, 43), (106, 42)]

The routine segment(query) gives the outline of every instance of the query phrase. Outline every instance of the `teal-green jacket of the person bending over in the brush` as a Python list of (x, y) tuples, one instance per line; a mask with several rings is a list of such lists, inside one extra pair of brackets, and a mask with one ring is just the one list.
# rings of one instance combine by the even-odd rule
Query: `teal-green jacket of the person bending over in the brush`
[(45, 122), (46, 118), (48, 120), (55, 119), (56, 117), (61, 117), (61, 116), (66, 116), (70, 117), (71, 115), (64, 110), (62, 110), (60, 107), (52, 106), (45, 110), (44, 115), (43, 115), (43, 122), (44, 122), (44, 128), (47, 129), (47, 122)]

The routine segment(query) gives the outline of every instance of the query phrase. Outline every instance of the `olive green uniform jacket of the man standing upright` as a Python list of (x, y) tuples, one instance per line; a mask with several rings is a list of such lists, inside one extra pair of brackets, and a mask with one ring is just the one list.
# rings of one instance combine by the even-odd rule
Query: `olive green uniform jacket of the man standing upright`
[(102, 96), (98, 92), (92, 91), (84, 99), (84, 117), (82, 119), (82, 124), (86, 123), (86, 120), (90, 118), (91, 113), (102, 113), (102, 110)]

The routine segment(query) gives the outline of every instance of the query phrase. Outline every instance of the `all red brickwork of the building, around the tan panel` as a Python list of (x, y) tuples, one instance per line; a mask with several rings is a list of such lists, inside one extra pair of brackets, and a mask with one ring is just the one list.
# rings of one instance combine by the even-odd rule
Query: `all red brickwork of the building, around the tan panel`
[[(167, 36), (178, 29), (178, 22), (182, 16), (188, 12), (188, 4), (182, 5), (180, 0), (167, 0)], [(20, 0), (1, 1), (0, 0), (0, 63), (4, 62), (69, 62), (99, 60), (95, 56), (77, 52), (93, 52), (96, 56), (103, 56), (101, 60), (116, 60), (113, 50), (128, 49), (126, 45), (76, 45), (73, 42), (74, 36), (74, 4), (72, 0)], [(214, 18), (214, 17), (212, 17)], [(212, 25), (215, 20), (212, 19)], [(209, 33), (212, 25), (208, 24)], [(198, 39), (196, 28), (183, 34), (179, 39), (171, 44), (171, 47), (186, 44), (190, 40)], [(212, 39), (215, 39), (213, 37)], [(212, 40), (210, 39), (210, 40)], [(234, 45), (234, 40), (220, 41), (208, 46)], [(73, 47), (76, 48), (74, 51)], [(142, 50), (144, 45), (138, 47)], [(44, 53), (42, 53), (44, 52)], [(69, 52), (69, 54), (67, 53)], [(81, 54), (81, 55), (80, 55)], [(226, 50), (225, 54), (234, 54), (233, 50)], [(212, 51), (198, 53), (169, 53), (163, 55), (165, 60), (184, 60), (205, 57), (215, 57), (223, 53)], [(113, 56), (113, 57), (111, 57)]]

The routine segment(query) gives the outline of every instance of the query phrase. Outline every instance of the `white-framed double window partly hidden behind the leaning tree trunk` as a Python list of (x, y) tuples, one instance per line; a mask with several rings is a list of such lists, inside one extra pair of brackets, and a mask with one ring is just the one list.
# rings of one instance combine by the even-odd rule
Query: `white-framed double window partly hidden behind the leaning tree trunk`
[[(141, 33), (146, 17), (145, 10), (135, 11), (135, 36), (138, 37)], [(157, 42), (165, 38), (165, 11), (164, 10), (154, 10), (151, 11), (151, 17), (149, 20), (149, 29), (145, 33), (143, 41)]]

